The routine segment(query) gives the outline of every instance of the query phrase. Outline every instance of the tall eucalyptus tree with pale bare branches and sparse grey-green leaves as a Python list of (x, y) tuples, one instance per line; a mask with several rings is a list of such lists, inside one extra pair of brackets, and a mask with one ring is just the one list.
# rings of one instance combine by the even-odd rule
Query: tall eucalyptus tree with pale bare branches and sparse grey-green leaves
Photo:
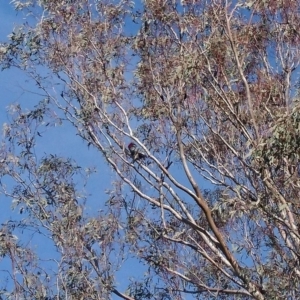
[[(5, 127), (2, 176), (19, 189), (3, 192), (60, 253), (56, 286), (37, 289), (22, 269), (35, 280), (14, 279), (12, 293), (295, 299), (299, 1), (12, 2), (26, 19), (1, 65), (45, 100)], [(35, 128), (60, 118), (116, 175), (97, 218), (75, 201), (74, 162), (33, 154)], [(24, 252), (2, 251), (24, 264)], [(115, 272), (127, 256), (147, 273), (124, 292)]]

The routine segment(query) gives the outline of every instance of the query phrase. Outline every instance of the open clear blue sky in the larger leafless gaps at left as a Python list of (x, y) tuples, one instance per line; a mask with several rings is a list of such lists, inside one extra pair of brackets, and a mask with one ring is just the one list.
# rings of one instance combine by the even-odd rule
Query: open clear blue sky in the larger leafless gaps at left
[[(13, 6), (9, 4), (9, 1), (0, 2), (0, 43), (7, 40), (7, 36), (12, 32), (13, 28), (22, 23), (22, 14), (17, 14)], [(17, 69), (9, 69), (0, 72), (0, 91), (1, 91), (1, 107), (0, 107), (0, 126), (7, 122), (8, 113), (7, 107), (11, 103), (20, 103), (23, 109), (30, 109), (36, 105), (42, 96), (38, 95), (35, 84), (29, 81), (29, 78)], [(2, 133), (1, 133), (2, 134)], [(97, 173), (92, 175), (89, 179), (86, 187), (86, 192), (90, 196), (88, 197), (87, 205), (85, 207), (84, 214), (95, 215), (97, 211), (103, 208), (105, 201), (108, 199), (108, 195), (105, 194), (105, 190), (110, 188), (110, 183), (114, 178), (114, 174), (110, 171), (109, 167), (101, 158), (101, 154), (93, 149), (88, 148), (87, 144), (82, 141), (76, 135), (76, 131), (71, 125), (64, 123), (58, 127), (47, 127), (47, 132), (43, 134), (43, 137), (37, 140), (36, 154), (39, 158), (46, 154), (57, 154), (62, 157), (73, 158), (78, 165), (82, 167), (95, 167)], [(178, 170), (179, 171), (179, 170)], [(179, 172), (178, 172), (179, 173)], [(0, 223), (5, 223), (12, 216), (11, 199), (5, 198), (0, 194), (1, 210), (0, 210)], [(15, 212), (14, 214), (18, 214)], [(14, 218), (16, 215), (14, 215)], [(39, 239), (33, 239), (31, 241), (32, 247), (37, 249), (37, 253), (44, 258), (54, 255), (54, 248), (51, 247), (45, 241)], [(0, 287), (1, 273), (5, 274), (5, 269), (9, 268), (7, 261), (0, 260)], [(129, 283), (129, 277), (131, 275), (141, 277), (145, 268), (143, 265), (137, 263), (135, 260), (128, 260), (125, 262), (123, 268), (118, 273), (117, 288), (124, 292), (127, 284)], [(4, 272), (4, 273), (3, 273)], [(6, 273), (7, 275), (7, 273)], [(142, 278), (141, 278), (142, 279)], [(120, 299), (113, 296), (113, 299)], [(186, 299), (189, 299), (187, 297)]]

